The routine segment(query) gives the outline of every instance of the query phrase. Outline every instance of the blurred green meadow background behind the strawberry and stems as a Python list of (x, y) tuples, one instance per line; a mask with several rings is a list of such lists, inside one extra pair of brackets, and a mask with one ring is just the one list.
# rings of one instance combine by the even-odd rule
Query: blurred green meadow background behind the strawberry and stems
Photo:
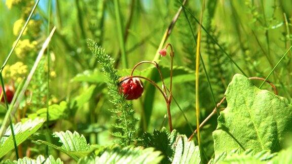
[[(33, 1), (1, 1), (0, 2), (0, 63), (6, 59), (19, 33), (20, 19), (26, 20)], [(14, 3), (9, 7), (9, 3)], [(197, 19), (202, 8), (201, 1), (188, 1), (186, 5), (192, 12), (186, 11), (195, 34)], [(89, 52), (86, 38), (92, 38), (106, 52), (117, 60), (117, 68), (121, 75), (128, 75), (135, 63), (143, 60), (153, 60), (175, 13), (178, 11), (178, 1), (120, 1), (119, 9), (122, 18), (122, 31), (128, 68), (122, 66), (120, 59), (118, 24), (114, 2), (110, 0), (71, 0), (52, 1), (51, 24), (57, 30), (50, 43), (51, 83), (50, 103), (59, 104), (66, 101), (69, 105), (55, 121), (52, 121), (53, 131), (76, 130), (84, 134), (90, 143), (100, 145), (111, 144), (111, 113), (112, 107), (100, 74), (100, 67), (94, 56)], [(28, 12), (27, 12), (28, 11)], [(18, 21), (18, 24), (16, 23)], [(20, 47), (15, 50), (8, 64), (16, 62), (27, 65), (27, 71), (32, 67), (44, 40), (47, 37), (48, 1), (41, 1), (32, 16), (34, 21), (28, 25), (27, 32), (22, 36)], [(231, 55), (232, 59), (249, 77), (265, 78), (281, 58), (282, 54), (292, 44), (292, 1), (257, 0), (257, 1), (206, 1), (203, 25), (217, 42)], [(23, 25), (23, 24), (22, 24)], [(20, 26), (21, 27), (21, 26)], [(29, 44), (23, 42), (28, 39)], [(187, 115), (192, 128), (196, 127), (195, 118), (195, 53), (196, 42), (184, 12), (181, 12), (167, 43), (174, 48), (174, 86), (173, 96)], [(22, 47), (21, 47), (22, 46)], [(17, 51), (18, 50), (18, 51)], [(201, 55), (210, 76), (215, 101), (220, 101), (225, 89), (235, 73), (240, 71), (218, 48), (212, 39), (202, 32)], [(279, 95), (291, 103), (291, 52), (277, 67), (269, 80), (275, 84)], [(158, 61), (157, 61), (158, 62)], [(159, 64), (165, 77), (169, 77), (170, 58), (161, 58)], [(137, 74), (149, 75), (151, 66), (142, 65)], [(34, 80), (30, 84), (32, 105), (23, 105), (20, 109), (21, 118), (28, 117), (38, 109), (46, 106), (41, 93), (46, 88), (46, 60), (38, 67)], [(25, 73), (20, 77), (25, 76)], [(158, 74), (154, 80), (159, 83)], [(12, 83), (12, 77), (5, 78), (6, 83)], [(254, 81), (255, 84), (260, 84)], [(213, 110), (210, 90), (203, 68), (200, 69), (200, 106), (201, 120)], [(142, 98), (134, 100), (133, 108), (136, 117), (140, 118), (142, 130), (153, 132), (161, 126), (168, 127), (164, 121), (166, 105), (153, 87), (145, 84)], [(169, 84), (169, 80), (167, 85)], [(15, 84), (17, 85), (17, 83)], [(17, 86), (15, 86), (17, 87)], [(43, 88), (42, 88), (43, 87)], [(35, 91), (34, 89), (37, 88)], [(269, 85), (264, 89), (271, 90)], [(40, 96), (41, 95), (41, 96)], [(28, 99), (29, 96), (26, 97)], [(74, 106), (74, 101), (80, 104)], [(73, 105), (72, 105), (73, 104)], [(24, 106), (27, 109), (24, 111)], [(189, 136), (190, 131), (186, 120), (175, 103), (171, 106), (174, 129)], [(3, 113), (5, 114), (5, 113)], [(204, 148), (212, 154), (211, 132), (216, 127), (216, 117), (203, 128)]]

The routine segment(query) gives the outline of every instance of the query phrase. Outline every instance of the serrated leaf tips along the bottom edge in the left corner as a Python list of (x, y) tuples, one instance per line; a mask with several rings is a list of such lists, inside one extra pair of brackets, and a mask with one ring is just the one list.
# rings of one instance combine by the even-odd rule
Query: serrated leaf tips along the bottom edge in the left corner
[(55, 158), (52, 155), (49, 155), (47, 158), (44, 157), (43, 155), (39, 155), (38, 157), (36, 157), (36, 159), (31, 159), (28, 157), (24, 157), (18, 160), (14, 160), (14, 161), (10, 161), (10, 160), (6, 160), (5, 162), (3, 162), (5, 164), (25, 164), (25, 163), (31, 163), (31, 164), (62, 164), (63, 161), (60, 158), (57, 158), (57, 160), (55, 160)]

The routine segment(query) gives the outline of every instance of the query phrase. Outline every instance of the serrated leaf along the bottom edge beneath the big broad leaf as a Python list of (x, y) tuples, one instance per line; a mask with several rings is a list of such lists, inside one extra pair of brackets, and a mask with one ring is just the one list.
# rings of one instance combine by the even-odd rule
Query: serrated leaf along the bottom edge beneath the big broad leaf
[(263, 150), (256, 153), (252, 149), (242, 152), (240, 149), (232, 150), (230, 152), (223, 152), (216, 158), (211, 159), (208, 163), (266, 163), (271, 160), (277, 153), (271, 154), (270, 150)]

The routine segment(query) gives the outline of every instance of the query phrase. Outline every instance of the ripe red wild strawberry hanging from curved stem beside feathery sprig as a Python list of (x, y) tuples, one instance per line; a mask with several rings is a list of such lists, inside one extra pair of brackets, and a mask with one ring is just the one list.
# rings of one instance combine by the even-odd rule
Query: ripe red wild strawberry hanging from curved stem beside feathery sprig
[[(127, 77), (123, 77), (121, 80)], [(126, 100), (134, 100), (141, 97), (143, 93), (143, 84), (137, 77), (128, 78), (122, 81), (120, 86), (120, 93), (123, 93)]]

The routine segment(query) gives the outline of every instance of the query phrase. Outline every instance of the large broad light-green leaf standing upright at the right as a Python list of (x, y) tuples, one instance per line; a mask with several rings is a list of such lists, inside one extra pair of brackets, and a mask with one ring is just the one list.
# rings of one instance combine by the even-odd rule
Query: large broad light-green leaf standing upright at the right
[(282, 97), (258, 89), (240, 74), (234, 75), (225, 95), (228, 105), (213, 132), (215, 157), (237, 148), (277, 152), (283, 147), (292, 130), (292, 107)]

